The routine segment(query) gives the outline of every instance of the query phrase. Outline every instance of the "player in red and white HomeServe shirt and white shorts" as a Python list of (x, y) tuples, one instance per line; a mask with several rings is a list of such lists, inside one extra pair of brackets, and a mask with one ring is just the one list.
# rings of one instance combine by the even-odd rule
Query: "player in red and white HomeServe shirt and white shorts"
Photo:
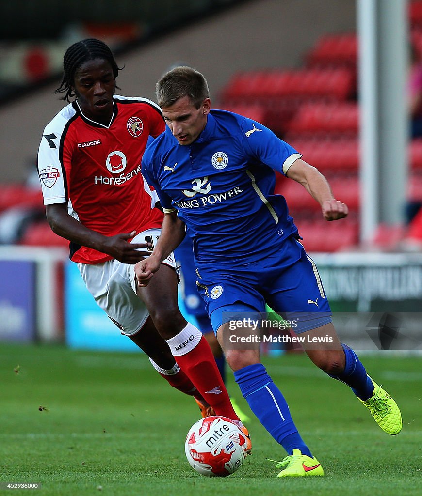
[(153, 367), (194, 396), (203, 415), (211, 406), (239, 421), (206, 339), (179, 311), (173, 255), (152, 284), (136, 284), (134, 264), (152, 251), (163, 219), (141, 175), (148, 137), (165, 129), (161, 110), (115, 95), (120, 69), (99, 40), (74, 43), (63, 66), (56, 93), (76, 98), (45, 127), (37, 158), (48, 222), (70, 240), (70, 259), (97, 304)]

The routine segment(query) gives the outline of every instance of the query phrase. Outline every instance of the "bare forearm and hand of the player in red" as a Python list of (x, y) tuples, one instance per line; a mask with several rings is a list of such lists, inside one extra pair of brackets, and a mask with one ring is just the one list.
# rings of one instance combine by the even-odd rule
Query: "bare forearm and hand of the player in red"
[(149, 252), (139, 251), (137, 248), (146, 248), (146, 243), (129, 243), (135, 236), (132, 233), (123, 233), (116, 236), (104, 236), (88, 229), (68, 213), (66, 203), (46, 205), (47, 220), (54, 233), (77, 245), (94, 248), (101, 253), (107, 253), (123, 263), (136, 263)]

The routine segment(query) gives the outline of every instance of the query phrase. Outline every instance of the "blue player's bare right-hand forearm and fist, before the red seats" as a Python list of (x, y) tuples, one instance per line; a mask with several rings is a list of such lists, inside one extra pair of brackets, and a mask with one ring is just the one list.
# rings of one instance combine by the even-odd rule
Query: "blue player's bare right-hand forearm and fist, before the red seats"
[(327, 179), (315, 167), (297, 159), (287, 170), (286, 176), (301, 184), (321, 205), (325, 220), (347, 217), (349, 208), (346, 203), (336, 200)]

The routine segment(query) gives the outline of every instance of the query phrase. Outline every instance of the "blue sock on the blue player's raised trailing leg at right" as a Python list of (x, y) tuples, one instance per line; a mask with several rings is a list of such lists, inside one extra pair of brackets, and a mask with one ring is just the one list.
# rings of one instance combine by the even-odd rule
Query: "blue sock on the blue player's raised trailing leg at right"
[(366, 401), (372, 396), (374, 385), (371, 379), (366, 375), (366, 370), (356, 353), (348, 345), (343, 344), (343, 350), (346, 356), (345, 370), (339, 375), (328, 374), (333, 379), (338, 379), (352, 388), (353, 393), (362, 401)]

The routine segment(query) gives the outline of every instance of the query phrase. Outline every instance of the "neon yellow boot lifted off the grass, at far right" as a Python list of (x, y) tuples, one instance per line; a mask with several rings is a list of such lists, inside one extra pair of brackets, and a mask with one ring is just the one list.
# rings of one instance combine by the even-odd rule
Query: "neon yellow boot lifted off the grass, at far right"
[(374, 385), (374, 392), (366, 401), (362, 401), (360, 398), (358, 400), (371, 412), (375, 422), (384, 432), (391, 435), (399, 434), (403, 427), (403, 421), (397, 403), (371, 377), (369, 378)]

